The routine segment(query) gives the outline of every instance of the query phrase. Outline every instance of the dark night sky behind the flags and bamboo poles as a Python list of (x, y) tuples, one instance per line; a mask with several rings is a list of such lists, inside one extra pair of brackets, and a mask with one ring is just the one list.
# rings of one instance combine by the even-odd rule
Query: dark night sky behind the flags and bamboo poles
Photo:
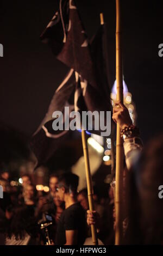
[[(108, 28), (111, 82), (115, 80), (115, 0), (77, 0), (87, 34), (104, 13)], [(123, 72), (136, 104), (146, 141), (162, 131), (162, 1), (123, 0)], [(43, 45), (39, 35), (57, 10), (57, 0), (0, 2), (0, 121), (28, 134), (35, 131), (67, 68)]]

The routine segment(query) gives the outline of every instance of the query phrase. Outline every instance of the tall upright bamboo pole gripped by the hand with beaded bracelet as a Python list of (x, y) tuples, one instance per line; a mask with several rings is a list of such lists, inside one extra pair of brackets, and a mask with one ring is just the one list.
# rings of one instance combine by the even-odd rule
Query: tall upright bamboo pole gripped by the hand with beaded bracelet
[[(121, 102), (123, 102), (120, 0), (116, 0), (116, 81), (117, 81), (117, 100), (120, 100)], [(122, 196), (123, 196), (123, 142), (121, 138), (120, 126), (117, 124), (116, 188), (115, 188), (115, 212), (116, 212), (115, 245), (120, 245), (122, 243), (122, 237), (123, 237)]]

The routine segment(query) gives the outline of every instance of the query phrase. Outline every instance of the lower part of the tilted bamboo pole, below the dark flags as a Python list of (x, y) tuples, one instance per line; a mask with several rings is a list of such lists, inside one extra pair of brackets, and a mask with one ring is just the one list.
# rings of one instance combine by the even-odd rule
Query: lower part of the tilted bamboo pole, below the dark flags
[[(85, 136), (84, 130), (82, 130), (82, 144), (83, 144), (83, 153), (84, 153), (84, 161), (85, 161), (85, 174), (86, 174), (86, 183), (87, 183), (87, 196), (88, 196), (88, 200), (89, 200), (89, 209), (90, 209), (90, 211), (93, 211), (94, 210), (93, 189), (92, 189), (89, 153), (88, 153), (86, 136)], [(92, 233), (93, 245), (98, 245), (97, 231), (96, 231), (95, 225), (91, 225), (91, 233)]]

